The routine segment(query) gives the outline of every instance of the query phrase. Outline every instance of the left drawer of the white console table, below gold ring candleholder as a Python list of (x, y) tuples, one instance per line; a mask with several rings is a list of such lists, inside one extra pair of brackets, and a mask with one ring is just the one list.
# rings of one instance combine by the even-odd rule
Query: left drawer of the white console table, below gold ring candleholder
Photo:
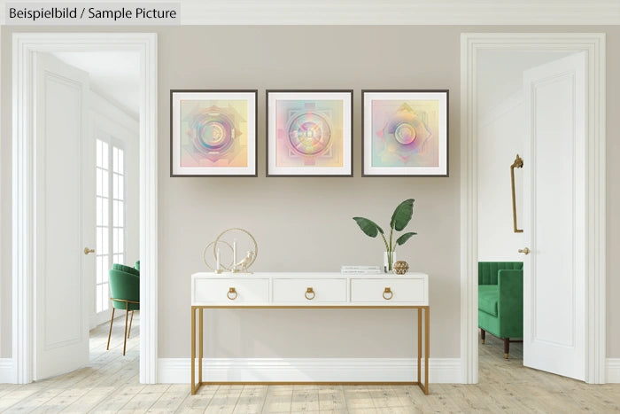
[(194, 284), (194, 303), (224, 302), (233, 305), (269, 301), (269, 279), (197, 278)]

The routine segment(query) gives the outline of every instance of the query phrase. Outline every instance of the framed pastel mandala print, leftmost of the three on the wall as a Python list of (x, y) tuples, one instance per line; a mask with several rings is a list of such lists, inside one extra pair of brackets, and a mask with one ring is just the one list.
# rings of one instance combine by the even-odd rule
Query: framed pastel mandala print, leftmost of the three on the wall
[(170, 176), (257, 176), (257, 90), (170, 90)]

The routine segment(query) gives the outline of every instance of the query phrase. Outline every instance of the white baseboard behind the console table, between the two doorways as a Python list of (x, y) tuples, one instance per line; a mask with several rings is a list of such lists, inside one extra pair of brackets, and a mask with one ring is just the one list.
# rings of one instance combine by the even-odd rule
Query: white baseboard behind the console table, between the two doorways
[[(159, 358), (159, 383), (189, 384), (190, 376), (190, 358)], [(215, 382), (387, 382), (416, 376), (417, 361), (411, 358), (203, 359), (203, 380)], [(461, 382), (461, 359), (430, 358), (429, 382)]]

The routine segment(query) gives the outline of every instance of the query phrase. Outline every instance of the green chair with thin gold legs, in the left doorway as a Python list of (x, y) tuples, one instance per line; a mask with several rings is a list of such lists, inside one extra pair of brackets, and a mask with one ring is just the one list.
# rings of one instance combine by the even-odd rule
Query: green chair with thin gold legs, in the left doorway
[[(110, 349), (110, 337), (112, 336), (112, 323), (114, 322), (114, 311), (116, 309), (125, 310), (125, 335), (123, 342), (123, 355), (127, 349), (127, 339), (131, 334), (131, 324), (134, 322), (134, 311), (140, 310), (140, 270), (114, 263), (109, 272), (110, 293), (112, 294), (112, 319), (110, 319), (110, 332), (108, 333), (108, 345)], [(128, 329), (128, 315), (131, 311), (131, 321)]]

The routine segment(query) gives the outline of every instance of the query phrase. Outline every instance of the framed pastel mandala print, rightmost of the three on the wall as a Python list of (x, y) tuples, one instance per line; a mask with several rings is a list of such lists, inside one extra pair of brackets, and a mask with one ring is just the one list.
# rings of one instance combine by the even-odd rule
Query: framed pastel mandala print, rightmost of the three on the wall
[(448, 90), (362, 90), (362, 176), (448, 176)]

